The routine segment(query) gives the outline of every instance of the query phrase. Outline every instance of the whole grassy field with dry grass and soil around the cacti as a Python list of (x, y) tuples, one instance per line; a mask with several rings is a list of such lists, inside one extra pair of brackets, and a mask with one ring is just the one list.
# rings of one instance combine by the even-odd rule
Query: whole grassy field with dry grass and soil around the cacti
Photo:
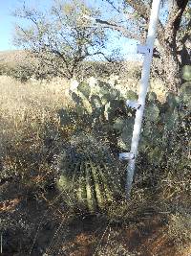
[[(128, 82), (122, 88), (136, 89), (138, 81)], [(151, 87), (164, 101), (161, 81)], [(107, 214), (65, 207), (54, 183), (56, 157), (74, 129), (60, 123), (60, 109), (73, 106), (68, 88), (61, 79), (20, 83), (0, 77), (2, 255), (189, 256), (190, 198), (184, 193), (187, 213), (169, 210), (167, 196), (180, 201), (184, 182), (170, 173), (158, 195), (162, 207), (153, 195), (146, 198), (144, 187), (137, 187), (132, 202), (114, 202)]]

